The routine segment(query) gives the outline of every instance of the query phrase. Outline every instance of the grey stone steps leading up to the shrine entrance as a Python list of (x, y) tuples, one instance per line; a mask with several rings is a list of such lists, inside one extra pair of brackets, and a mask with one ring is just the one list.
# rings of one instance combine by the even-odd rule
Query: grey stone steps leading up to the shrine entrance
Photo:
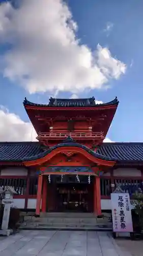
[(24, 217), (20, 229), (38, 230), (112, 230), (112, 226), (105, 219), (97, 219), (94, 214), (72, 212), (46, 212), (39, 218)]

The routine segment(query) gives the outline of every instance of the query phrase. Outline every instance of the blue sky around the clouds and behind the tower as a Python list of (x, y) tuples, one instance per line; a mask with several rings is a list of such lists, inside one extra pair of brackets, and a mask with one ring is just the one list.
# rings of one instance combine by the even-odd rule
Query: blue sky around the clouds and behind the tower
[[(69, 0), (68, 6), (73, 16), (72, 19), (78, 26), (75, 33), (80, 39), (79, 45), (86, 45), (91, 52), (94, 52), (99, 44), (102, 48), (109, 49), (112, 57), (116, 57), (126, 65), (125, 74), (121, 74), (118, 79), (108, 80), (109, 89), (85, 88), (84, 91), (79, 90), (76, 94), (78, 97), (94, 96), (103, 102), (110, 101), (117, 96), (120, 104), (108, 132), (108, 138), (112, 141), (142, 142), (142, 1)], [(0, 15), (0, 25), (2, 21)], [(3, 56), (14, 47), (16, 44), (13, 42), (9, 44), (9, 39), (3, 35), (0, 44), (2, 55), (0, 104), (7, 108), (9, 113), (18, 115), (26, 122), (29, 120), (22, 105), (24, 97), (26, 96), (33, 102), (46, 103), (53, 92), (35, 91), (30, 94), (27, 89), (25, 90), (25, 86), (20, 84), (19, 79), (12, 81), (10, 75), (4, 77), (6, 67)], [(34, 79), (36, 81), (35, 77)], [(72, 94), (70, 90), (58, 91), (58, 97), (61, 98), (70, 97)]]

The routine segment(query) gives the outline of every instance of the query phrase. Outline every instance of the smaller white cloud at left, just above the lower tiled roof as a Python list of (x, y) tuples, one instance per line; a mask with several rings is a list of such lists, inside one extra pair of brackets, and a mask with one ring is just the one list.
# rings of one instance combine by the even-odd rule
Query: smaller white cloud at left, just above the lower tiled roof
[(35, 141), (37, 134), (30, 122), (24, 122), (19, 116), (0, 108), (0, 141)]

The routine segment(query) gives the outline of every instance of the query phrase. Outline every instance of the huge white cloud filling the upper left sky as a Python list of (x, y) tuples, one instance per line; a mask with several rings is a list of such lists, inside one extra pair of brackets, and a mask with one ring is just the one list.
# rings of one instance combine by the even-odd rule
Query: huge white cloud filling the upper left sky
[(28, 92), (106, 87), (126, 65), (98, 45), (93, 53), (76, 38), (77, 24), (62, 0), (21, 0), (21, 7), (0, 6), (0, 38), (11, 44), (1, 58), (4, 76)]

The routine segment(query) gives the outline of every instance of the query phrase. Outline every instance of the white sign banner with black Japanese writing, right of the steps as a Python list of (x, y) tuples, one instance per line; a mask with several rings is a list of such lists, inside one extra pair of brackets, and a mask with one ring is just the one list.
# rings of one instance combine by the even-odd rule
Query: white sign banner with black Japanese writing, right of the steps
[(113, 231), (133, 232), (129, 194), (111, 193), (111, 208)]

